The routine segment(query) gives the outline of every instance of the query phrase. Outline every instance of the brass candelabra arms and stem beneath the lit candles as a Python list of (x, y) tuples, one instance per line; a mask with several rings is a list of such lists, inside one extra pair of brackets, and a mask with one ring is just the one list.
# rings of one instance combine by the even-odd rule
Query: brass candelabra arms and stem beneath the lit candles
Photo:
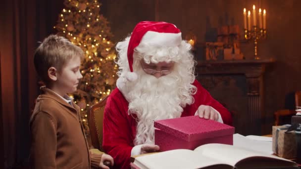
[(248, 41), (254, 40), (254, 59), (260, 59), (257, 55), (257, 41), (266, 39), (266, 29), (257, 29), (257, 26), (253, 26), (253, 30), (245, 29), (245, 39)]

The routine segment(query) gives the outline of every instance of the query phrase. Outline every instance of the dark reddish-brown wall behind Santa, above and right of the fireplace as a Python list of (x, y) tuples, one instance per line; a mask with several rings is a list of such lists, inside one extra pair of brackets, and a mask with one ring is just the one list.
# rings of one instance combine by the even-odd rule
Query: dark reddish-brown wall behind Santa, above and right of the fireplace
[[(276, 63), (266, 68), (264, 75), (264, 133), (269, 133), (273, 113), (292, 105), (290, 101), (286, 104), (287, 95), (301, 90), (301, 0), (104, 0), (101, 9), (111, 22), (115, 35), (113, 41), (120, 41), (128, 35), (139, 21), (154, 20), (156, 2), (159, 4), (159, 21), (174, 23), (181, 29), (183, 37), (193, 30), (198, 46), (208, 40), (212, 28), (232, 24), (243, 28), (244, 7), (251, 10), (255, 4), (257, 9), (267, 10), (268, 37), (259, 41), (258, 53), (263, 59), (276, 59)], [(247, 59), (253, 58), (252, 43), (242, 44), (242, 51)], [(200, 53), (197, 58), (202, 59)], [(219, 97), (218, 94), (215, 96)]]

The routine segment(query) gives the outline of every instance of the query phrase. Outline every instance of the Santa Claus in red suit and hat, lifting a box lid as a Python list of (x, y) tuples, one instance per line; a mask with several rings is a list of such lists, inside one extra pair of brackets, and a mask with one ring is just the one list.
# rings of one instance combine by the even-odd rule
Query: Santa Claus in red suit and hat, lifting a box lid
[(131, 155), (159, 150), (155, 120), (196, 115), (232, 125), (195, 79), (191, 45), (181, 37), (173, 24), (144, 21), (117, 43), (119, 79), (106, 102), (102, 142), (116, 168), (130, 168)]

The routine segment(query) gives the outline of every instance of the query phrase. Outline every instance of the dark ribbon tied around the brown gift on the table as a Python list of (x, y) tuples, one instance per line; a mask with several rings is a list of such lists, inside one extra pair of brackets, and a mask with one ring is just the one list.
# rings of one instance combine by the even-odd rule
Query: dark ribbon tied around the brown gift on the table
[(289, 133), (291, 131), (295, 131), (296, 133), (296, 142), (297, 142), (297, 162), (301, 161), (301, 124), (294, 123), (292, 125), (284, 125), (284, 127), (277, 128), (275, 135), (275, 146), (276, 146), (276, 154), (278, 154), (278, 135), (280, 130), (285, 130), (285, 133)]

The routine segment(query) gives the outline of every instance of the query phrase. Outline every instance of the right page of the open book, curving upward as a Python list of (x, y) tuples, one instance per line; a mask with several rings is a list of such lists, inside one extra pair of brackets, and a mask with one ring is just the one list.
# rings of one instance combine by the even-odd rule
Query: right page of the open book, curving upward
[[(239, 161), (251, 157), (255, 157), (253, 159), (257, 159), (257, 161), (260, 161), (261, 159), (275, 159), (278, 161), (285, 161), (289, 163), (291, 162), (290, 160), (286, 160), (277, 156), (251, 151), (245, 148), (235, 147), (227, 144), (205, 144), (196, 148), (195, 152), (198, 153), (200, 156), (215, 158), (219, 161), (222, 161), (224, 164), (228, 164), (231, 166), (235, 166)], [(273, 161), (275, 162), (275, 160)], [(292, 162), (292, 164), (294, 164), (294, 162)]]

